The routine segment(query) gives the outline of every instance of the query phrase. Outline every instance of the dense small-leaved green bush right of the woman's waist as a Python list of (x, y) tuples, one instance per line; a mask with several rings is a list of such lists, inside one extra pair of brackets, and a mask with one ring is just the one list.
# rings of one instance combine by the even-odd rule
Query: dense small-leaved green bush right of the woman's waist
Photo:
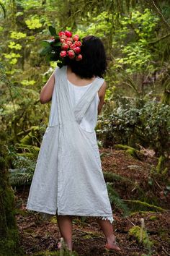
[(104, 146), (142, 145), (155, 150), (156, 155), (169, 155), (170, 106), (156, 101), (137, 105), (121, 104), (111, 114), (99, 117), (97, 134)]

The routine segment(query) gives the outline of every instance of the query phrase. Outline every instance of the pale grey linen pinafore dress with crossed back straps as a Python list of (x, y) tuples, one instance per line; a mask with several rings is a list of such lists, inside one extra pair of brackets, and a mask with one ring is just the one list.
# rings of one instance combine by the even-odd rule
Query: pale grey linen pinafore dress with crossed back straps
[(58, 119), (48, 124), (42, 137), (26, 209), (47, 216), (94, 216), (112, 223), (96, 132), (80, 125), (104, 80), (96, 77), (73, 108), (67, 67), (54, 74)]

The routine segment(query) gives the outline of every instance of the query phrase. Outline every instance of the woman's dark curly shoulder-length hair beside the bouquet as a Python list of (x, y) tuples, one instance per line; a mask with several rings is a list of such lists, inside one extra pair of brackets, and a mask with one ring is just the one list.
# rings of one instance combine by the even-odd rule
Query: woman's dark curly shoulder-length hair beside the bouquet
[(82, 39), (81, 54), (83, 59), (66, 59), (65, 64), (81, 78), (103, 77), (107, 69), (106, 54), (102, 40), (94, 35)]

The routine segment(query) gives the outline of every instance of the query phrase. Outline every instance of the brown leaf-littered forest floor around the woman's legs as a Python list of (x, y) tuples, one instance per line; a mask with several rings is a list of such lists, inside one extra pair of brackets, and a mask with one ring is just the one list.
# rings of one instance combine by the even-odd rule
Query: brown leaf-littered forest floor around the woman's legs
[[(115, 173), (125, 178), (124, 184), (115, 181), (115, 190), (123, 200), (145, 200), (166, 209), (161, 212), (134, 210), (128, 217), (122, 217), (121, 210), (113, 208), (114, 230), (121, 252), (105, 252), (105, 239), (94, 218), (73, 218), (73, 249), (78, 255), (170, 255), (170, 192), (164, 180), (151, 176), (151, 168), (157, 159), (151, 153), (143, 159), (135, 159), (124, 150), (100, 149), (104, 172)], [(131, 181), (131, 182), (130, 182)], [(129, 182), (129, 184), (128, 184)], [(140, 189), (138, 189), (140, 187)], [(43, 220), (40, 213), (25, 210), (30, 186), (17, 188), (17, 226), (24, 255), (55, 254), (61, 235), (55, 216)], [(142, 192), (141, 192), (142, 191)], [(142, 193), (142, 195), (141, 195)], [(143, 197), (144, 195), (144, 197)], [(130, 236), (133, 226), (141, 226), (144, 219), (148, 239), (153, 242), (149, 249)], [(46, 253), (45, 253), (46, 252)]]

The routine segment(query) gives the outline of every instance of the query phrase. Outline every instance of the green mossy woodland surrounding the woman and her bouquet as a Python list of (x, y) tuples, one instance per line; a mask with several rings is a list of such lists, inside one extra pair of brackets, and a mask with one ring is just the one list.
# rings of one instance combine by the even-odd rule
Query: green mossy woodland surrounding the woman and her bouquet
[[(39, 101), (56, 67), (40, 54), (50, 25), (99, 36), (107, 51), (96, 132), (120, 255), (169, 255), (169, 0), (0, 1), (0, 255), (58, 255), (55, 219), (25, 211), (50, 112)], [(104, 255), (94, 221), (74, 224), (76, 252)]]

